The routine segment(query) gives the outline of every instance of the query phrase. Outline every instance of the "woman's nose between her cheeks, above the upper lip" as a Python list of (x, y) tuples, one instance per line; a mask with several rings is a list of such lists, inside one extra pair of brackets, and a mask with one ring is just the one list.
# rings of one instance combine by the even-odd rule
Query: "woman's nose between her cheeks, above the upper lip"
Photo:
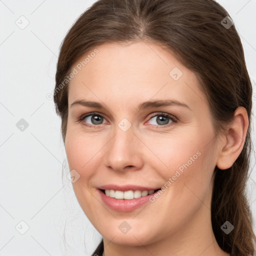
[(105, 150), (105, 166), (115, 171), (137, 170), (143, 166), (141, 141), (135, 135), (132, 126), (126, 131), (116, 126)]

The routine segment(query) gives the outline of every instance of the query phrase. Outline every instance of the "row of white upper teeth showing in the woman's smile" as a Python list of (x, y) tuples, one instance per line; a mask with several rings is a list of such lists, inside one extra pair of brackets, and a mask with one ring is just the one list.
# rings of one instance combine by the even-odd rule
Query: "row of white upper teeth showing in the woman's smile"
[(148, 194), (152, 194), (154, 190), (128, 190), (128, 191), (120, 191), (120, 190), (113, 190), (113, 189), (105, 189), (105, 194), (107, 196), (110, 196), (112, 198), (116, 199), (133, 199), (133, 198), (139, 198), (141, 196), (146, 196)]

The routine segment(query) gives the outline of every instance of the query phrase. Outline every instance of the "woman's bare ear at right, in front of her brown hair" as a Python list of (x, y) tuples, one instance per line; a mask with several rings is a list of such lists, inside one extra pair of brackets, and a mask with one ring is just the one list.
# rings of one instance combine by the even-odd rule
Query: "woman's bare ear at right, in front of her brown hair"
[(232, 122), (227, 125), (224, 139), (219, 144), (219, 155), (216, 163), (219, 169), (230, 168), (239, 156), (245, 142), (248, 124), (246, 109), (242, 106), (237, 107)]

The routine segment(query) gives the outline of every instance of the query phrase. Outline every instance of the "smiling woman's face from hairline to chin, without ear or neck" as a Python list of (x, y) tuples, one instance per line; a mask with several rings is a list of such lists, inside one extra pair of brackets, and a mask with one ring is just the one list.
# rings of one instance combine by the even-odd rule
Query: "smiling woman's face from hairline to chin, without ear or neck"
[(218, 148), (195, 74), (153, 43), (96, 48), (73, 66), (68, 92), (65, 149), (81, 208), (119, 244), (199, 230)]

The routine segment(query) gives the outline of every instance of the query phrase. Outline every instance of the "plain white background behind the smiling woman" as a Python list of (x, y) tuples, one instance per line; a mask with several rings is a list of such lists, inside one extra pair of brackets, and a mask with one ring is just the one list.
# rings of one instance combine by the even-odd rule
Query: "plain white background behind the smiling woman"
[[(60, 119), (53, 100), (46, 98), (54, 89), (59, 45), (75, 19), (93, 2), (0, 0), (1, 256), (90, 255), (100, 239), (65, 174), (62, 181), (62, 164), (64, 173), (68, 168)], [(256, 93), (256, 0), (218, 2), (227, 9), (239, 32)], [(24, 29), (15, 24), (21, 15), (29, 21)], [(254, 112), (255, 101), (256, 94)], [(28, 123), (24, 131), (16, 127), (21, 118)], [(255, 219), (254, 163), (253, 156), (248, 195)], [(19, 223), (21, 220), (29, 226), (24, 234), (17, 231), (25, 231), (26, 224)]]

